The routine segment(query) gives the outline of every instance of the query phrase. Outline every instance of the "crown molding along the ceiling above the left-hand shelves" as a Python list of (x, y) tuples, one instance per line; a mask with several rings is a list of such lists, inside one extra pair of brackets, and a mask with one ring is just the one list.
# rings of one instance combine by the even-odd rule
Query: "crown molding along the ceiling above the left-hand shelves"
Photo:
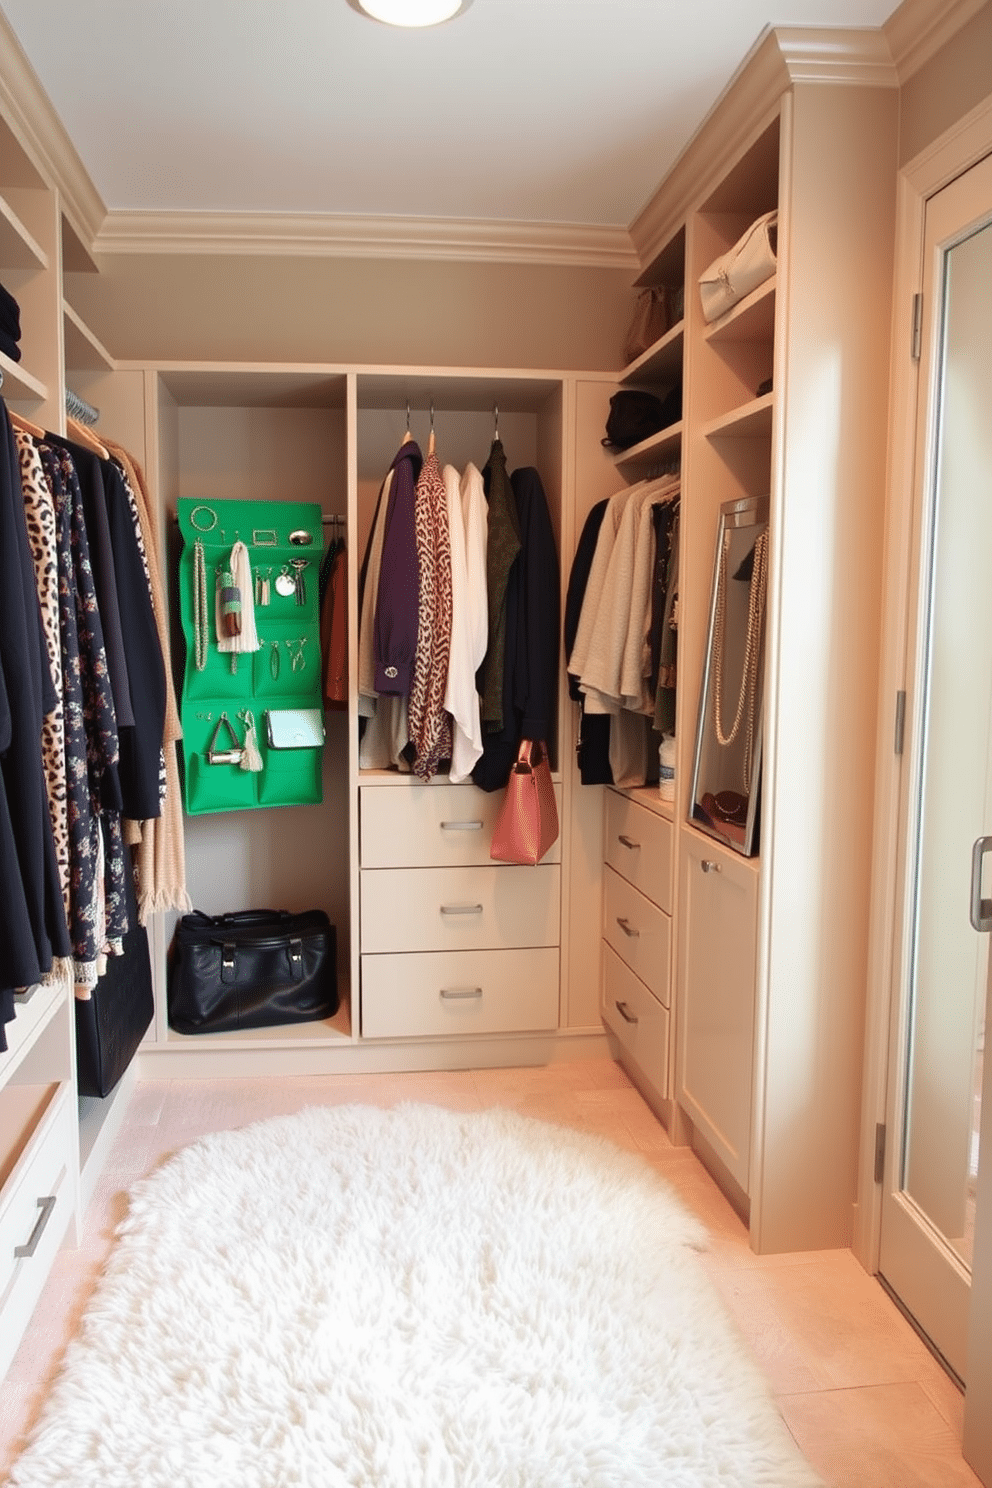
[(58, 189), (61, 208), (89, 251), (107, 208), (1, 12), (0, 54), (0, 107), (25, 153)]

